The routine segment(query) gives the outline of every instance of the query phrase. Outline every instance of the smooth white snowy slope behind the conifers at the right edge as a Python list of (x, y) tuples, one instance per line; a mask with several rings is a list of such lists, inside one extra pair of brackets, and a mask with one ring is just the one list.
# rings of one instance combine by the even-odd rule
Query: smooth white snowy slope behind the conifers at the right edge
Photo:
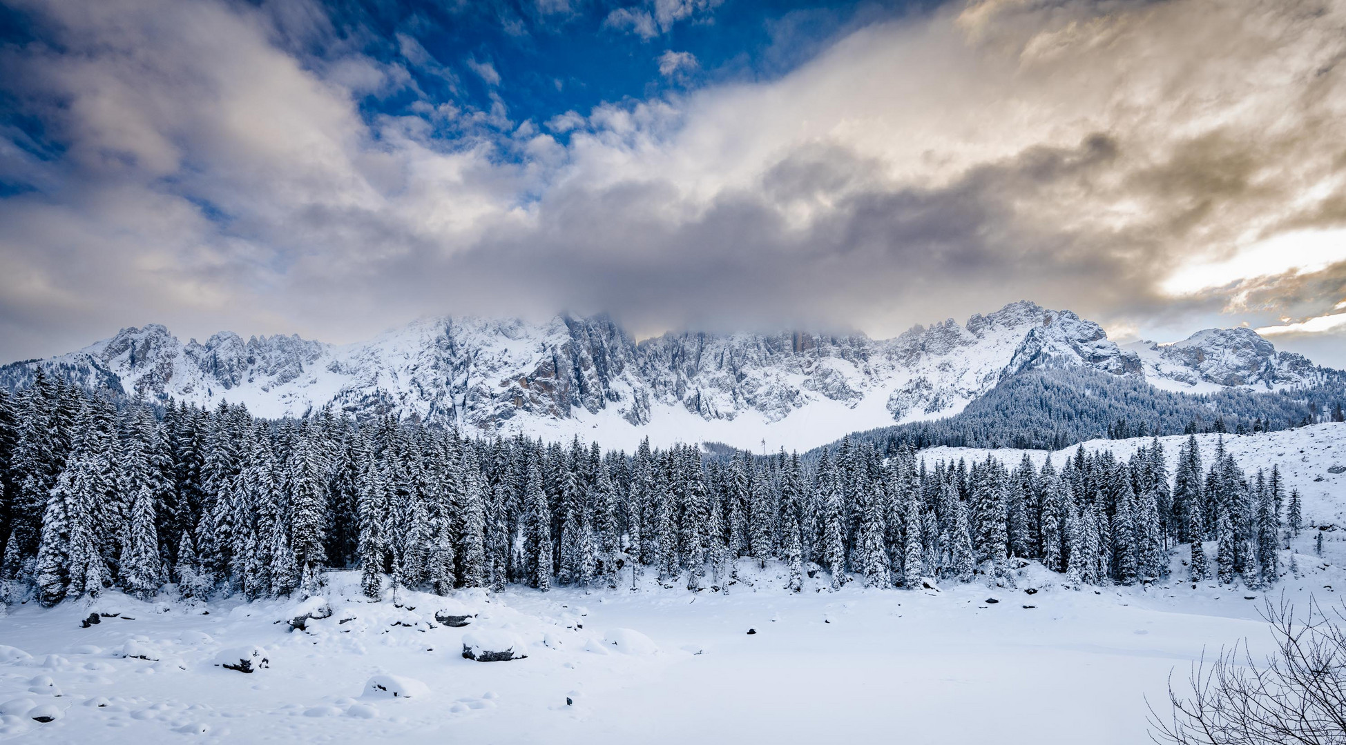
[[(1250, 434), (1198, 434), (1197, 442), (1201, 445), (1202, 465), (1207, 469), (1221, 437), (1224, 437), (1225, 449), (1234, 456), (1240, 468), (1249, 476), (1253, 476), (1259, 468), (1265, 468), (1268, 472), (1272, 465), (1280, 468), (1285, 480), (1285, 494), (1289, 494), (1289, 489), (1299, 489), (1304, 500), (1306, 524), (1346, 526), (1346, 424), (1316, 424)], [(1178, 457), (1178, 448), (1186, 440), (1184, 434), (1159, 438), (1164, 448), (1170, 477)], [(1139, 446), (1148, 446), (1149, 442), (1148, 437), (1089, 440), (1050, 453), (1011, 448), (926, 448), (921, 450), (921, 456), (930, 463), (958, 459), (966, 459), (970, 463), (995, 456), (997, 460), (1014, 465), (1027, 455), (1035, 467), (1042, 468), (1049, 456), (1059, 467), (1079, 446), (1090, 453), (1112, 450), (1117, 457), (1129, 459)]]

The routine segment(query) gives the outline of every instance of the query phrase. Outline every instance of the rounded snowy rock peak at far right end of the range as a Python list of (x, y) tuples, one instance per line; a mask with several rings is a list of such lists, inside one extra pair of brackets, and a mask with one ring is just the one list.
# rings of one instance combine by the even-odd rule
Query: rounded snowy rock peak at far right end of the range
[(1182, 386), (1302, 385), (1319, 375), (1303, 355), (1280, 352), (1250, 328), (1207, 328), (1182, 342), (1133, 346), (1144, 359), (1148, 378)]

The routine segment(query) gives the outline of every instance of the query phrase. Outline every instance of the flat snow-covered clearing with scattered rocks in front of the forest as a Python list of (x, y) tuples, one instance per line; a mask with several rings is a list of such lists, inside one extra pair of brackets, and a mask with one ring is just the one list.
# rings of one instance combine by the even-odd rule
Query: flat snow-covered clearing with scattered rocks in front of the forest
[[(1298, 547), (1311, 554), (1307, 534)], [(1281, 586), (1335, 601), (1343, 549), (1300, 555), (1303, 578)], [(777, 566), (750, 565), (727, 596), (646, 578), (641, 592), (464, 592), (456, 602), (402, 592), (401, 606), (365, 602), (358, 576), (338, 572), (332, 613), (302, 631), (285, 621), (320, 602), (28, 604), (0, 619), (0, 644), (12, 647), (0, 648), (0, 737), (1133, 744), (1145, 738), (1143, 697), (1163, 701), (1171, 668), (1184, 674), (1203, 647), (1268, 641), (1261, 593), (1214, 584), (1075, 592), (1030, 566), (1018, 589), (852, 582), (829, 593), (810, 581), (793, 596)], [(441, 606), (476, 617), (450, 628), (435, 621)], [(120, 616), (82, 628), (92, 612)], [(463, 659), (472, 632), (517, 635), (528, 656)], [(254, 672), (215, 664), (254, 647), (267, 660)], [(59, 718), (32, 721), (24, 709), (36, 706)]]

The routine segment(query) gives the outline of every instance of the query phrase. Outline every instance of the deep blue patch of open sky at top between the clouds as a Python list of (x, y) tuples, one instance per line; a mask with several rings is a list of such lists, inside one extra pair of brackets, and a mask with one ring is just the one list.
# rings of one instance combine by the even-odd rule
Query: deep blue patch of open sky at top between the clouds
[[(342, 42), (404, 65), (415, 79), (415, 89), (367, 95), (367, 116), (415, 113), (419, 101), (489, 113), (498, 101), (510, 125), (545, 126), (604, 102), (778, 78), (848, 31), (919, 8), (876, 0), (556, 0), (334, 3), (327, 11)], [(326, 51), (296, 46), (315, 56)]]

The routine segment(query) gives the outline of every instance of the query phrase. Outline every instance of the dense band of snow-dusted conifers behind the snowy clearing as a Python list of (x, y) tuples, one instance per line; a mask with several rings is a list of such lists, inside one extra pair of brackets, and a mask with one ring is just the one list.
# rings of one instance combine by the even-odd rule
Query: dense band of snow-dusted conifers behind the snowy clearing
[(0, 476), (5, 600), (46, 605), (113, 586), (310, 594), (327, 567), (358, 567), (371, 597), (385, 574), (440, 594), (730, 592), (738, 559), (783, 562), (795, 592), (805, 576), (833, 589), (1007, 580), (1024, 559), (1073, 586), (1135, 585), (1163, 578), (1180, 543), (1191, 580), (1264, 586), (1302, 520), (1275, 468), (1248, 475), (1222, 446), (1203, 464), (1194, 438), (1176, 453), (1154, 440), (1129, 460), (1081, 448), (1040, 468), (1027, 456), (929, 461), (895, 440), (844, 440), (808, 461), (647, 442), (626, 453), (357, 425), (330, 409), (160, 414), (43, 375), (0, 391)]

